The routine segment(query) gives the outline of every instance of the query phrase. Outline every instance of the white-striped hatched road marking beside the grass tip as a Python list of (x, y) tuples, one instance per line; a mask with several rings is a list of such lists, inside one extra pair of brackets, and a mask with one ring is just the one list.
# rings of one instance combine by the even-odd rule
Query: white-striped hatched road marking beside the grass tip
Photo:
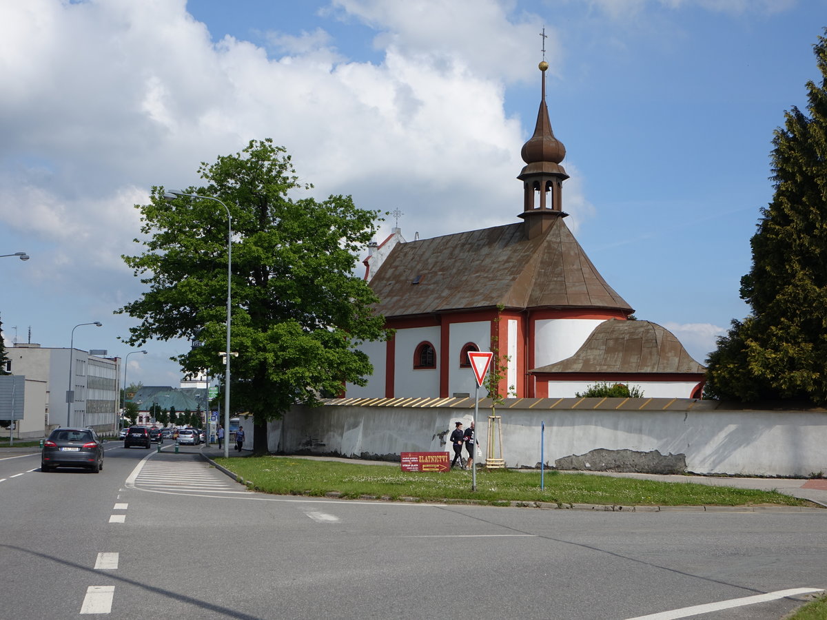
[(134, 478), (134, 487), (147, 491), (182, 494), (244, 494), (241, 485), (215, 470), (200, 457), (153, 455)]

